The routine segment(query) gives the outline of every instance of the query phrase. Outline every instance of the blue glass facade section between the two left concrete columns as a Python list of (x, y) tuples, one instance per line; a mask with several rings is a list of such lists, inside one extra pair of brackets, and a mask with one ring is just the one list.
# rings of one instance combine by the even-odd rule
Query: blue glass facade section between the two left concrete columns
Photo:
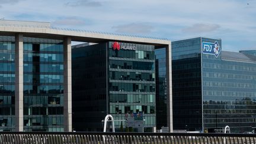
[(24, 38), (24, 131), (63, 132), (63, 43)]

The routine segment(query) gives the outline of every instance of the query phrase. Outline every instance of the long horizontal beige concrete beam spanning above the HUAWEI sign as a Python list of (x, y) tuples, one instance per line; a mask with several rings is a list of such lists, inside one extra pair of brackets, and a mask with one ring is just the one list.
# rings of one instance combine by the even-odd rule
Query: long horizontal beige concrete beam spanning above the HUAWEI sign
[(36, 28), (36, 27), (17, 27), (0, 25), (0, 34), (13, 35), (23, 33), (24, 37), (39, 37), (47, 39), (63, 40), (64, 37), (71, 37), (73, 41), (85, 41), (98, 43), (100, 41), (126, 41), (143, 44), (152, 44), (155, 46), (169, 45), (171, 41), (160, 39), (149, 39), (143, 37), (117, 36), (113, 34), (89, 33), (84, 31), (58, 30), (53, 28)]

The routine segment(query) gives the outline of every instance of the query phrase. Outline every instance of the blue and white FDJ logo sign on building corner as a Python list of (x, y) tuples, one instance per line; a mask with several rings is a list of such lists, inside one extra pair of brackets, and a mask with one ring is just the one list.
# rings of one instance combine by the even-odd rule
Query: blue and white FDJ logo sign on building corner
[(202, 46), (203, 46), (203, 53), (206, 53), (209, 55), (215, 55), (215, 57), (218, 57), (221, 52), (221, 48), (219, 46), (219, 43), (217, 43), (217, 41), (215, 41), (215, 43), (203, 42)]

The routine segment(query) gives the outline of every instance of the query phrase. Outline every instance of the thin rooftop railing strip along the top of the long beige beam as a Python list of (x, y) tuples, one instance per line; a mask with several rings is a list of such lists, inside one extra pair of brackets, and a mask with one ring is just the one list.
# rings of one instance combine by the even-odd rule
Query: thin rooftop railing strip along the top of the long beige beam
[(124, 36), (124, 37), (138, 37), (138, 38), (145, 38), (145, 39), (156, 39), (156, 40), (168, 40), (166, 38), (159, 38), (159, 37), (148, 37), (148, 36), (137, 36), (132, 34), (117, 34), (117, 33), (106, 33), (100, 31), (89, 31), (89, 30), (76, 30), (73, 28), (59, 28), (59, 27), (48, 27), (44, 25), (23, 25), (23, 24), (0, 24), (0, 27), (28, 27), (28, 28), (49, 28), (54, 30), (63, 30), (63, 31), (76, 31), (81, 33), (94, 33), (94, 34), (106, 34), (112, 36)]

